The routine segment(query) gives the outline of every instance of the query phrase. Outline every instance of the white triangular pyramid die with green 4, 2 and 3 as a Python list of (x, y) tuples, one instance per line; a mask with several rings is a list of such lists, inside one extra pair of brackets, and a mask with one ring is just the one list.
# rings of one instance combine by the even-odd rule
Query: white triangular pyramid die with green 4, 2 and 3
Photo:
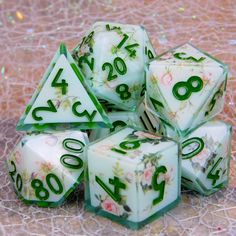
[(108, 116), (61, 44), (17, 130), (42, 131), (111, 127)]

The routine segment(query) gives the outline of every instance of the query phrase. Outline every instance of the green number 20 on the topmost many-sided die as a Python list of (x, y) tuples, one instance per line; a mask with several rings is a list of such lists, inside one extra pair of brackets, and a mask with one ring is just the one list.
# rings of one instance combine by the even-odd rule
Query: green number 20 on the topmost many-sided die
[[(120, 57), (116, 57), (113, 61), (115, 70), (117, 71), (118, 74), (120, 75), (125, 75), (127, 73), (127, 67), (126, 64), (124, 62), (124, 60)], [(107, 76), (107, 80), (111, 81), (117, 78), (117, 75), (113, 75), (113, 66), (111, 63), (109, 62), (105, 62), (102, 65), (102, 70), (105, 71), (106, 68), (108, 68), (108, 76)]]

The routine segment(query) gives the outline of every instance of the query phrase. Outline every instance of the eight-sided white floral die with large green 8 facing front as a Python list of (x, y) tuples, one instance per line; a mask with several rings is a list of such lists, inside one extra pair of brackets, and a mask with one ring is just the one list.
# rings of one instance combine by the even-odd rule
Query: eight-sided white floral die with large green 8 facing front
[(151, 61), (146, 71), (148, 99), (158, 116), (186, 134), (222, 110), (227, 70), (184, 44)]

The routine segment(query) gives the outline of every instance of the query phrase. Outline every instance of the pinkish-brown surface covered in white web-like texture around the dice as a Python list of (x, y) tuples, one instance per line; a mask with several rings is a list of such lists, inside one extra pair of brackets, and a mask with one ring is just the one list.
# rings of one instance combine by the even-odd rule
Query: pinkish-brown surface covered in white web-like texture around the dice
[(82, 191), (58, 209), (16, 198), (4, 167), (20, 136), (15, 124), (59, 43), (72, 50), (97, 20), (144, 25), (158, 53), (190, 41), (227, 63), (221, 118), (236, 124), (235, 0), (0, 0), (0, 235), (236, 235), (235, 135), (227, 189), (211, 197), (183, 191), (177, 208), (137, 232), (84, 212)]

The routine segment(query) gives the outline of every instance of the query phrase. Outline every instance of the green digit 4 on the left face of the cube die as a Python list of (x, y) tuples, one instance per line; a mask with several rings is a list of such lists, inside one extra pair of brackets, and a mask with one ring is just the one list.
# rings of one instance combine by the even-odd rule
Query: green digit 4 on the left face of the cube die
[(98, 176), (95, 176), (95, 180), (115, 202), (121, 201), (120, 189), (126, 189), (126, 185), (118, 177), (109, 178), (109, 184), (114, 185), (114, 192)]

